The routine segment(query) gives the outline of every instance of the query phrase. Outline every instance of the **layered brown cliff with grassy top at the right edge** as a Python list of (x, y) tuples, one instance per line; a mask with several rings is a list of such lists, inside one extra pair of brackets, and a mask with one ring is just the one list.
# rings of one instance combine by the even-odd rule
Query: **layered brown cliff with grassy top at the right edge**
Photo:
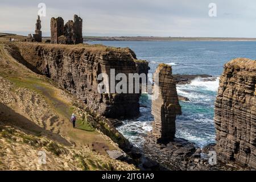
[(218, 158), (256, 168), (256, 61), (225, 65), (215, 103)]

